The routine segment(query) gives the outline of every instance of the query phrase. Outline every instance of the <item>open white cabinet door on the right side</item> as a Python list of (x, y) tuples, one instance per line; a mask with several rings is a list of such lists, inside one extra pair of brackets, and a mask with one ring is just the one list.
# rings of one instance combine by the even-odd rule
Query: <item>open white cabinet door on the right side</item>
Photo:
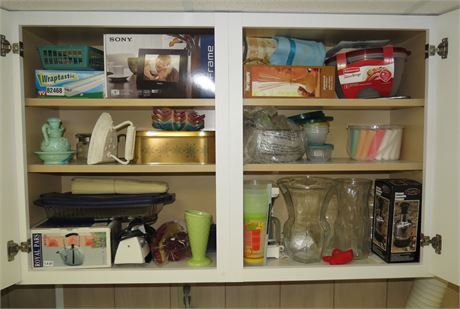
[(435, 160), (427, 163), (429, 166), (434, 164), (434, 177), (429, 180), (434, 190), (431, 233), (442, 236), (442, 253), (433, 253), (431, 271), (435, 276), (459, 285), (460, 11), (437, 17), (435, 29), (434, 35), (430, 35), (430, 44), (437, 45), (443, 38), (448, 38), (449, 47), (447, 59), (432, 56), (429, 60), (430, 70), (431, 64), (435, 64), (436, 70), (429, 73), (435, 76), (436, 85), (435, 97), (430, 98), (430, 104), (435, 105), (436, 132), (432, 134)]

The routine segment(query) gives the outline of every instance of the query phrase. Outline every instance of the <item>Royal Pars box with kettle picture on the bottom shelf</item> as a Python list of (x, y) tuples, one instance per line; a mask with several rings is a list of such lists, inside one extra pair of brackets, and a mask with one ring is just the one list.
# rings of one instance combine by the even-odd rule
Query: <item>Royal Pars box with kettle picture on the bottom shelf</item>
[(120, 221), (49, 219), (31, 230), (34, 269), (111, 267)]

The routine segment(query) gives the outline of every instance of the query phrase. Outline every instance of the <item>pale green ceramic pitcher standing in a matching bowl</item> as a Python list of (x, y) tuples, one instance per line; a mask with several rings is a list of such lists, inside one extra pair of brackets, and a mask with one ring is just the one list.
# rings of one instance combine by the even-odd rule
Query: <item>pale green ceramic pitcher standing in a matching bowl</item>
[(66, 152), (70, 151), (70, 143), (63, 137), (64, 128), (61, 127), (61, 119), (48, 118), (42, 126), (43, 141), (40, 144), (42, 152)]

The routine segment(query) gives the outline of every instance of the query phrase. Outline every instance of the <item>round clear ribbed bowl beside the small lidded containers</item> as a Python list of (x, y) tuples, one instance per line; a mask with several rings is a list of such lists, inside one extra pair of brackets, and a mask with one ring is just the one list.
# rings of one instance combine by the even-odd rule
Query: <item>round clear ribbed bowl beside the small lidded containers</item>
[(251, 130), (244, 148), (247, 163), (287, 163), (305, 153), (302, 130)]

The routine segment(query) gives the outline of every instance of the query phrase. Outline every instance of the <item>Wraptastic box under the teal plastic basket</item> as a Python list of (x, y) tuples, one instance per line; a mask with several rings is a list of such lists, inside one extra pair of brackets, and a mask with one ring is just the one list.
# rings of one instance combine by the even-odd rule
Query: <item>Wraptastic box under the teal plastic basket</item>
[(104, 72), (36, 70), (39, 97), (103, 98)]

